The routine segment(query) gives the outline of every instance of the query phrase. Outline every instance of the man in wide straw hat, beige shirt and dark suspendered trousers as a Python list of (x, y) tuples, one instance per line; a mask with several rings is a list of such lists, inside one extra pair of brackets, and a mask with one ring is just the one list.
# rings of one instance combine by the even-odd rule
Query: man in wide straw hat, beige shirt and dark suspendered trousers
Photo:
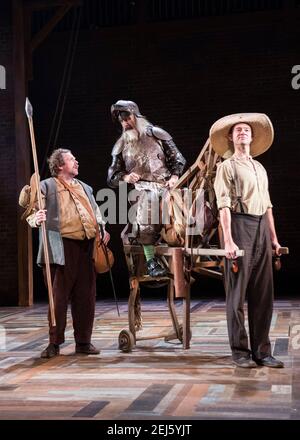
[[(243, 368), (282, 368), (271, 355), (273, 312), (272, 247), (280, 254), (265, 168), (253, 157), (270, 148), (272, 122), (261, 113), (225, 116), (210, 129), (212, 148), (225, 160), (217, 168), (214, 188), (226, 251), (224, 283), (229, 342), (233, 362)], [(232, 270), (236, 250), (244, 249)], [(248, 295), (248, 335), (244, 301)]]

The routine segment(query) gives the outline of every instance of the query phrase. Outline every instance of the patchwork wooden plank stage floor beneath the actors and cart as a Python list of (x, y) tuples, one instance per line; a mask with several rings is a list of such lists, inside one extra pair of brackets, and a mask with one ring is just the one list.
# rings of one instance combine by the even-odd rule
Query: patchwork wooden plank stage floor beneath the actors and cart
[[(176, 301), (181, 311), (181, 301)], [(191, 348), (140, 341), (118, 349), (127, 303), (97, 302), (98, 356), (75, 356), (69, 315), (61, 355), (41, 359), (46, 306), (0, 308), (1, 419), (300, 419), (300, 300), (277, 300), (271, 341), (284, 369), (231, 363), (222, 300), (191, 302)], [(143, 335), (171, 328), (165, 301), (142, 301)]]

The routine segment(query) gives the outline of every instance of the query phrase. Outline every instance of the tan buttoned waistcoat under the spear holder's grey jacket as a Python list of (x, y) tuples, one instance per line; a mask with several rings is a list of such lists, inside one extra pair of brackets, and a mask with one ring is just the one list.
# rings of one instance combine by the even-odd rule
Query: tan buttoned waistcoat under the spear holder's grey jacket
[[(82, 203), (80, 203), (80, 201), (59, 182), (58, 179), (55, 179), (55, 181), (57, 185), (61, 236), (72, 238), (74, 240), (94, 238), (96, 236), (96, 228), (89, 212), (85, 209)], [(76, 189), (80, 195), (90, 203), (83, 187), (77, 182), (77, 180), (74, 179), (70, 186)], [(97, 208), (96, 218), (99, 224), (104, 224), (99, 207)], [(27, 217), (26, 220), (31, 227), (37, 227), (35, 213)]]

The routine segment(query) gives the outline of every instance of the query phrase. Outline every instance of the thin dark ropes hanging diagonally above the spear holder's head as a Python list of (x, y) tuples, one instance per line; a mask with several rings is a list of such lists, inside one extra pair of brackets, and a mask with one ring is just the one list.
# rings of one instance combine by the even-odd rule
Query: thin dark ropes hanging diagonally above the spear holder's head
[(67, 56), (66, 56), (66, 62), (64, 66), (63, 76), (60, 84), (60, 90), (56, 102), (56, 108), (54, 112), (54, 116), (52, 119), (51, 124), (51, 130), (49, 135), (49, 140), (47, 143), (47, 148), (45, 150), (43, 163), (41, 167), (41, 176), (46, 177), (48, 174), (48, 168), (47, 168), (47, 157), (49, 155), (50, 148), (52, 146), (56, 147), (57, 139), (60, 132), (63, 112), (65, 108), (65, 103), (67, 99), (68, 89), (70, 85), (71, 75), (72, 75), (72, 68), (74, 63), (74, 55), (77, 48), (78, 43), (78, 35), (79, 35), (79, 29), (80, 29), (80, 23), (81, 23), (81, 13), (82, 13), (82, 6), (79, 6), (77, 8), (73, 9), (73, 23), (72, 23), (72, 29), (68, 44), (68, 50), (67, 50)]

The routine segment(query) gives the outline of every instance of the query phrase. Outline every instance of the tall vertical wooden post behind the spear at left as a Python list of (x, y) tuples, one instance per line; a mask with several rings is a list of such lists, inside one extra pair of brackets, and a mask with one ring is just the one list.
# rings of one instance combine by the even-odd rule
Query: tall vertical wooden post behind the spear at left
[[(25, 37), (22, 0), (13, 0), (13, 78), (15, 101), (15, 145), (16, 145), (16, 194), (30, 179), (30, 150), (27, 121), (25, 118), (25, 97), (27, 79), (25, 70)], [(17, 204), (17, 197), (16, 197)], [(32, 241), (31, 230), (21, 222), (23, 212), (17, 208), (18, 237), (18, 294), (19, 305), (33, 304)]]

